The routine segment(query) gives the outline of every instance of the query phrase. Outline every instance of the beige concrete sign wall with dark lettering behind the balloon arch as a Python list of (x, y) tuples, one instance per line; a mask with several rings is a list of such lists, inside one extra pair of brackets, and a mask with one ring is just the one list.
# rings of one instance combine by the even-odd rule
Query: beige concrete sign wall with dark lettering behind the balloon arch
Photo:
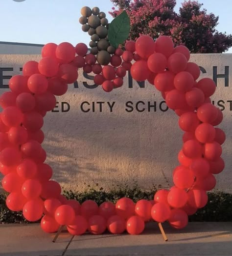
[[(0, 93), (6, 91), (10, 76), (20, 74), (23, 63), (39, 59), (0, 55)], [(201, 77), (217, 83), (212, 100), (223, 111), (220, 127), (227, 141), (226, 168), (216, 176), (216, 188), (232, 192), (232, 54), (192, 55), (191, 61), (201, 66)], [(65, 189), (82, 190), (95, 183), (110, 188), (135, 181), (146, 189), (153, 184), (172, 186), (183, 133), (178, 117), (149, 83), (138, 84), (126, 76), (123, 87), (106, 93), (80, 70), (77, 83), (57, 97), (56, 108), (46, 115), (43, 131), (46, 161)]]

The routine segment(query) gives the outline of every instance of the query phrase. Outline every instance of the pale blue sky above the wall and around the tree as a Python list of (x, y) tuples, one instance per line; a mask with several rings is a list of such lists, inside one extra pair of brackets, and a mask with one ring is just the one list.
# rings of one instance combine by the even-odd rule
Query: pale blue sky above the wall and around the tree
[[(199, 0), (203, 7), (219, 16), (218, 31), (232, 34), (232, 0)], [(177, 0), (179, 11), (183, 0)], [(107, 14), (113, 4), (110, 0), (0, 0), (0, 41), (46, 44), (48, 42), (83, 42), (89, 45), (90, 36), (81, 30), (80, 10), (83, 6)], [(232, 48), (228, 53), (232, 53)]]

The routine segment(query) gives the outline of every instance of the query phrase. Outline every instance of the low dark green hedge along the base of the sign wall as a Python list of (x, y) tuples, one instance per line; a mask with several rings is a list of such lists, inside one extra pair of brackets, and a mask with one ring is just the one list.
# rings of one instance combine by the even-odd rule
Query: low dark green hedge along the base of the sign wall
[[(149, 191), (144, 191), (135, 185), (129, 187), (127, 185), (116, 186), (111, 191), (99, 188), (96, 184), (95, 188), (88, 188), (85, 192), (64, 191), (64, 196), (68, 199), (76, 199), (80, 203), (85, 200), (92, 199), (100, 205), (104, 201), (116, 202), (117, 199), (128, 197), (134, 201), (139, 199), (151, 200), (154, 197), (157, 187), (153, 187)], [(194, 215), (189, 216), (189, 221), (198, 222), (231, 222), (232, 221), (232, 194), (220, 191), (209, 192), (208, 204), (199, 209)], [(0, 223), (28, 223), (22, 212), (12, 212), (5, 205), (6, 193), (0, 194)]]

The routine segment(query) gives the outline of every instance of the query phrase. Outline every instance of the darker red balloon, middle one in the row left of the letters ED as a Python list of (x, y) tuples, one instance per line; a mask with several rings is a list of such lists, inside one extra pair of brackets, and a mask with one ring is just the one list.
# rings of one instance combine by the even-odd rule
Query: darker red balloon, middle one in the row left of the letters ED
[(22, 112), (30, 112), (35, 108), (35, 97), (28, 92), (23, 92), (16, 98), (16, 106)]

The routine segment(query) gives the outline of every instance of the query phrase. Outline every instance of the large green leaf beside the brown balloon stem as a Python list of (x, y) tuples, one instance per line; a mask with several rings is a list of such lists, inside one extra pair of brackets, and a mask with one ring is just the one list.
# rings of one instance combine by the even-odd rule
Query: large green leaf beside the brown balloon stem
[(110, 44), (115, 48), (123, 43), (129, 36), (130, 32), (130, 18), (126, 11), (118, 15), (110, 24), (108, 31), (108, 39)]

